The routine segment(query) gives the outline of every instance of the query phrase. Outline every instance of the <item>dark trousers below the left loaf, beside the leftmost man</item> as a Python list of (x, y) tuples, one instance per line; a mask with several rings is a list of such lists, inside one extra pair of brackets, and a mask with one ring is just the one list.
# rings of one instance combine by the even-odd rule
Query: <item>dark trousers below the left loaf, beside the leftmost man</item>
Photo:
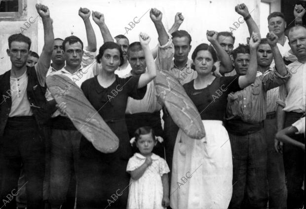
[[(66, 208), (68, 205), (74, 206), (76, 197), (74, 176), (77, 173), (81, 137), (81, 133), (77, 130), (52, 129), (49, 196), (52, 208), (60, 208), (64, 203)], [(67, 203), (68, 200), (71, 203)]]

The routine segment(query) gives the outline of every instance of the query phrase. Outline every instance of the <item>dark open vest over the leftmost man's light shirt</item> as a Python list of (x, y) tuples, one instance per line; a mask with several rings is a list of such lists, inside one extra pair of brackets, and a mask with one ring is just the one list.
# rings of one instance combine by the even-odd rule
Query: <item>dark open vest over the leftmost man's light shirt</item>
[[(8, 70), (4, 74), (0, 75), (0, 138), (3, 136), (5, 125), (12, 106), (10, 92), (10, 74), (11, 70)], [(46, 87), (40, 86), (35, 67), (28, 67), (27, 74), (27, 97), (30, 104), (33, 104), (31, 109), (36, 119), (39, 133), (43, 134), (43, 127), (48, 123), (52, 114), (52, 112), (50, 112), (50, 106), (48, 105), (44, 96)]]

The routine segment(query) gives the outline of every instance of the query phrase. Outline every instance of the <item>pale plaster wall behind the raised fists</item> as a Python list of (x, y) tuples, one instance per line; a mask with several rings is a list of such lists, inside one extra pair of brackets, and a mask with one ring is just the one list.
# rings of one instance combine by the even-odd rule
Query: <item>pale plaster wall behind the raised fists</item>
[[(136, 20), (138, 20), (152, 7), (162, 11), (162, 21), (167, 30), (172, 26), (176, 12), (182, 12), (185, 20), (180, 29), (184, 29), (191, 34), (191, 52), (199, 43), (207, 42), (206, 30), (220, 32), (230, 31), (229, 27), (234, 28), (233, 23), (238, 22), (240, 17), (234, 11), (234, 6), (237, 3), (244, 2), (249, 11), (254, 9), (252, 16), (258, 24), (260, 22), (260, 0), (28, 0), (28, 17), (37, 16), (36, 2), (41, 2), (49, 7), (55, 37), (64, 39), (73, 33), (83, 40), (84, 45), (87, 44), (87, 40), (83, 21), (78, 16), (79, 7), (87, 7), (90, 10), (104, 13), (113, 37), (118, 34), (125, 34), (124, 28), (129, 27), (129, 22), (133, 21), (136, 16), (138, 17)], [(32, 39), (32, 50), (41, 53), (43, 28), (40, 18), (38, 19), (39, 21), (36, 21), (25, 32), (25, 35)], [(92, 19), (91, 22), (99, 48), (103, 44), (102, 36)], [(5, 52), (8, 45), (7, 38), (13, 33), (20, 32), (23, 23), (23, 21), (0, 22), (0, 74), (10, 69), (10, 62)], [(135, 28), (125, 35), (131, 43), (138, 40), (140, 32), (148, 33), (151, 36), (151, 47), (157, 44), (157, 33), (150, 19), (149, 11), (136, 24)], [(233, 31), (233, 34), (236, 36), (235, 46), (238, 43), (245, 43), (246, 37), (249, 36), (246, 24), (240, 25)]]

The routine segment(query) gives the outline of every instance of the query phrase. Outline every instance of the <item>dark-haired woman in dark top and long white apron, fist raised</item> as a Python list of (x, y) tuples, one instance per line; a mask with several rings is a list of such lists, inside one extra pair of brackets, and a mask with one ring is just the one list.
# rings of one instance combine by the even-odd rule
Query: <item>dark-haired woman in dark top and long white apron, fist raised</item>
[(260, 38), (256, 35), (252, 37), (251, 60), (247, 74), (243, 76), (217, 78), (212, 75), (217, 60), (216, 51), (221, 61), (230, 59), (218, 43), (216, 32), (207, 32), (207, 39), (216, 51), (212, 46), (202, 43), (192, 53), (193, 69), (197, 77), (185, 84), (184, 88), (200, 113), (206, 137), (191, 139), (182, 130), (178, 132), (170, 193), (170, 206), (173, 209), (220, 209), (229, 206), (232, 156), (229, 136), (222, 121), (228, 94), (242, 90), (255, 81), (256, 48)]

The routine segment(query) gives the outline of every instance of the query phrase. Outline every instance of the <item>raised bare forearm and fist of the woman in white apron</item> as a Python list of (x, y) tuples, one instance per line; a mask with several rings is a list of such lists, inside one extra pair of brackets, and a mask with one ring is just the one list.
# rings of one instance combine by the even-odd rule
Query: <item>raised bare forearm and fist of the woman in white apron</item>
[(240, 88), (245, 88), (252, 83), (254, 83), (256, 79), (257, 73), (257, 47), (260, 43), (260, 37), (256, 33), (253, 32), (250, 38), (250, 64), (248, 70), (245, 75), (239, 76), (239, 86)]

